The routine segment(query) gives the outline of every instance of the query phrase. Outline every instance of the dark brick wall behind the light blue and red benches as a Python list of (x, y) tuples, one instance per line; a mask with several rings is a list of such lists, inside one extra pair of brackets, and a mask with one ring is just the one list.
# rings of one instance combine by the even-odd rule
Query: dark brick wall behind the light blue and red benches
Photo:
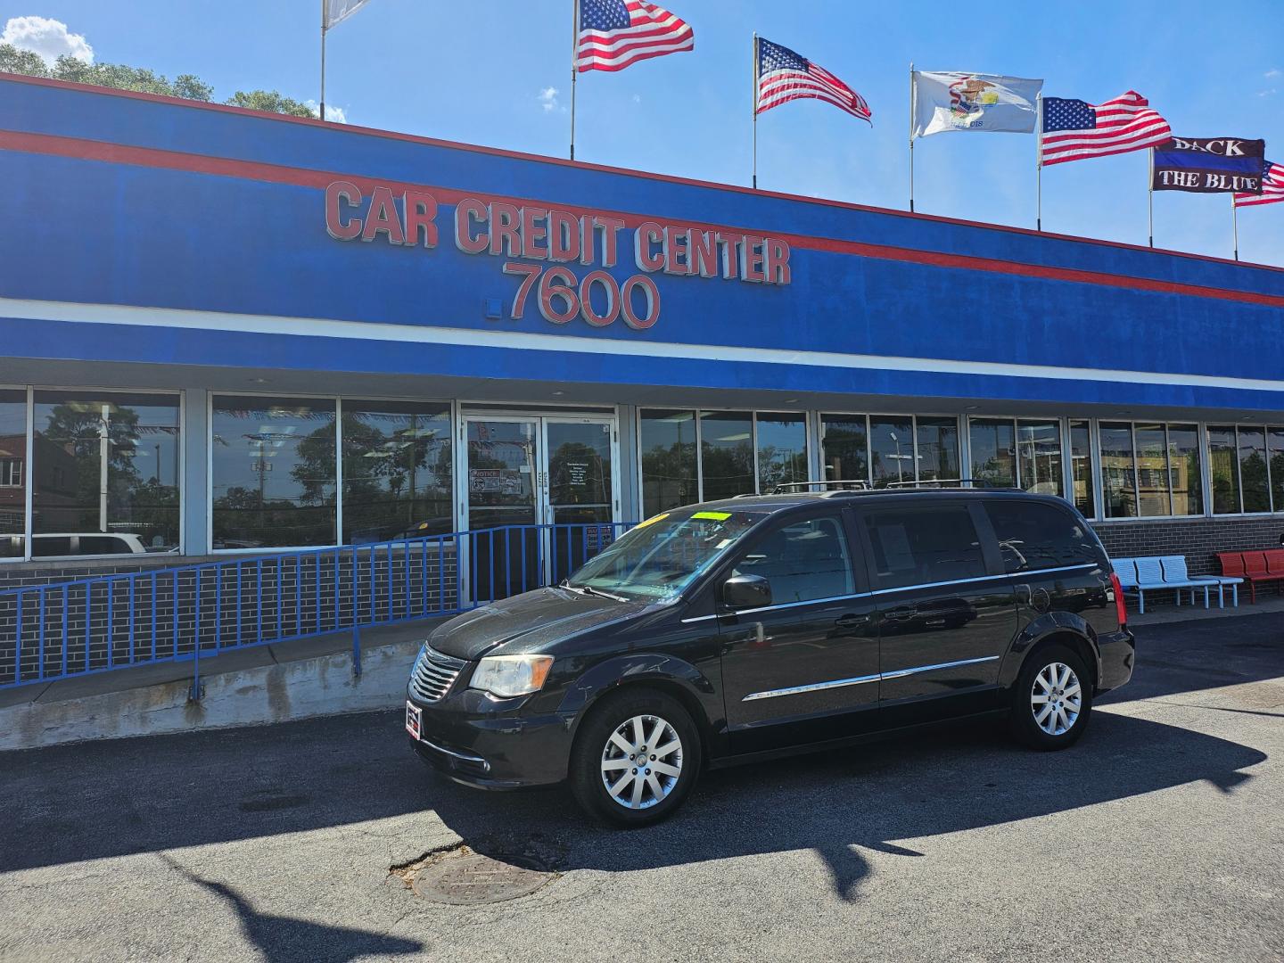
[(1099, 521), (1093, 529), (1112, 557), (1184, 555), (1192, 575), (1216, 575), (1215, 552), (1279, 548), (1284, 516)]

